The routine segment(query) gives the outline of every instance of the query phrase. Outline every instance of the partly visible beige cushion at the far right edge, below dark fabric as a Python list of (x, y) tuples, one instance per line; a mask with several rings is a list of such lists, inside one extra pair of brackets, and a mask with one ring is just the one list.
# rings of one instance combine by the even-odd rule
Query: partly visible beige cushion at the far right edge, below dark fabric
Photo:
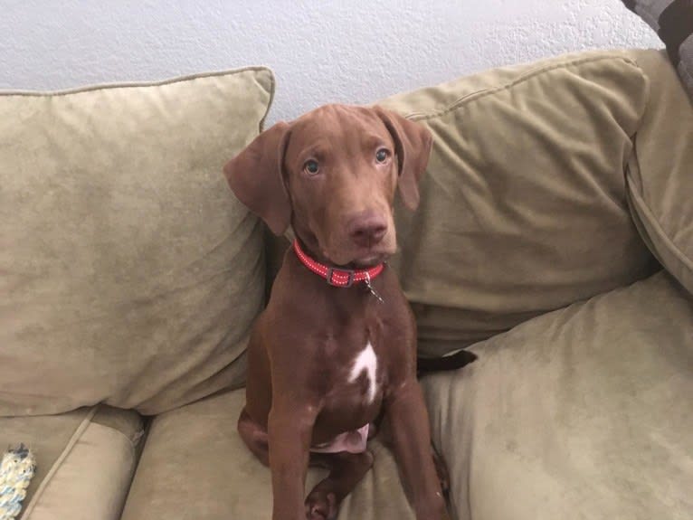
[(666, 54), (631, 55), (650, 81), (628, 162), (633, 218), (657, 258), (693, 293), (693, 105)]

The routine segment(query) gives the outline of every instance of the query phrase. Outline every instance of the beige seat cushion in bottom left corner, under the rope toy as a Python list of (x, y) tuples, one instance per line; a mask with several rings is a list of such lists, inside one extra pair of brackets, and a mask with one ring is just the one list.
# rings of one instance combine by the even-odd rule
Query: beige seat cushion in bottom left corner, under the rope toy
[(37, 459), (21, 520), (119, 518), (142, 428), (137, 412), (103, 405), (0, 418), (0, 446), (23, 442)]

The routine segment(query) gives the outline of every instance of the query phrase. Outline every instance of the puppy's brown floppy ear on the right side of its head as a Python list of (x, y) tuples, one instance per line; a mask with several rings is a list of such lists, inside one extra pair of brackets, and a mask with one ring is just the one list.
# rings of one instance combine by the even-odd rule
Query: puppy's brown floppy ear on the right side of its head
[(419, 205), (419, 180), (431, 155), (431, 132), (390, 110), (375, 107), (375, 112), (394, 139), (402, 200), (410, 209), (415, 210)]

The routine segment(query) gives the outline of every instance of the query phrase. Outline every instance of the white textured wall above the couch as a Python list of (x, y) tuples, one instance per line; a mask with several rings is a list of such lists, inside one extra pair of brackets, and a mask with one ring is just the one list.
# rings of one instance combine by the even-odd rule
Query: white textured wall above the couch
[(621, 0), (0, 0), (0, 89), (271, 67), (271, 120), (559, 52), (660, 47)]

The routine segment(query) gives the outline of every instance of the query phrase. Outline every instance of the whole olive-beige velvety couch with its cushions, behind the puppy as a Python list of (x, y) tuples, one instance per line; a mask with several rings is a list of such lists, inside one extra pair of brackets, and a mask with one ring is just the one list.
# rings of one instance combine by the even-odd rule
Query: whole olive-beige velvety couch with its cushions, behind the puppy
[[(0, 446), (38, 459), (24, 520), (270, 517), (235, 422), (285, 242), (221, 169), (273, 92), (256, 68), (0, 95)], [(693, 517), (693, 109), (666, 55), (381, 104), (434, 136), (392, 261), (422, 355), (479, 355), (422, 380), (453, 515)], [(339, 518), (413, 518), (372, 445)]]

